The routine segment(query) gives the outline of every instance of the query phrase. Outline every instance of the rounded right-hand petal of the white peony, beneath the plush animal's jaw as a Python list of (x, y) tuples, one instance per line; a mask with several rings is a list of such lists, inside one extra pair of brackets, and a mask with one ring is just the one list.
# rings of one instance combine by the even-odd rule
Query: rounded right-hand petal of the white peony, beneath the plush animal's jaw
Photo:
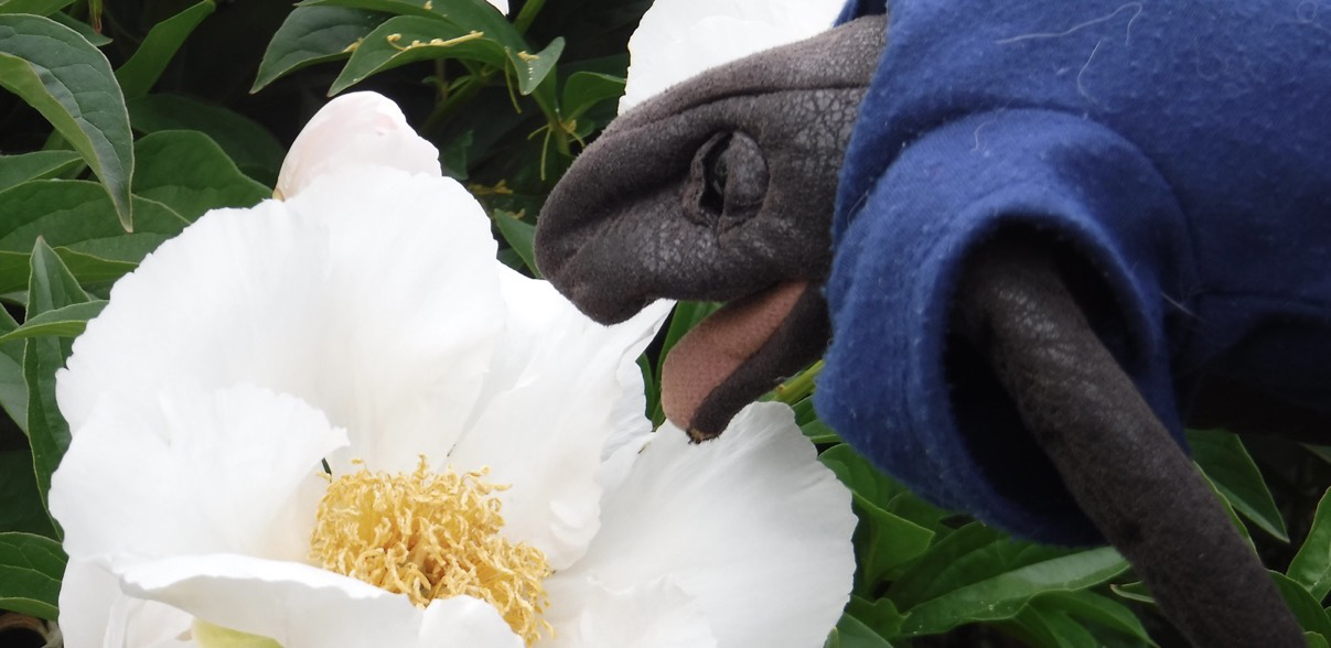
[(628, 589), (668, 575), (719, 647), (821, 645), (849, 599), (856, 518), (849, 491), (815, 454), (776, 403), (747, 407), (701, 446), (663, 426), (607, 494), (587, 555), (550, 591), (564, 579)]

